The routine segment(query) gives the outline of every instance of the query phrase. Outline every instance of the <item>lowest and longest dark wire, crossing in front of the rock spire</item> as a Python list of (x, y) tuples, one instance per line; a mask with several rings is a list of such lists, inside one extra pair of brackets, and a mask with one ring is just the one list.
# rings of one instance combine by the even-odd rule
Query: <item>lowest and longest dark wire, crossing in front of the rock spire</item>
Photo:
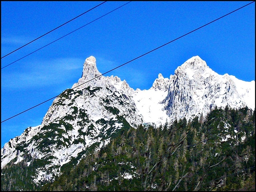
[[(253, 3), (253, 2), (250, 2), (249, 4), (246, 4), (245, 6), (248, 6), (248, 5), (252, 4), (252, 3)], [(138, 56), (138, 57), (136, 57), (136, 58), (134, 58), (134, 59), (132, 59), (132, 60), (130, 60), (130, 61), (128, 61), (128, 62), (122, 64), (122, 65), (119, 65), (118, 67), (115, 67), (114, 69), (111, 69), (111, 70), (109, 70), (109, 71), (107, 71), (107, 72), (105, 72), (105, 73), (102, 73), (101, 75), (98, 75), (98, 76), (96, 76), (96, 77), (94, 77), (94, 78), (92, 78), (92, 79), (90, 79), (90, 80), (88, 80), (88, 81), (86, 81), (86, 82), (84, 82), (84, 83), (82, 83), (82, 84), (76, 86), (76, 87), (79, 87), (79, 86), (81, 86), (81, 85), (83, 85), (83, 84), (85, 84), (85, 83), (88, 83), (89, 81), (92, 81), (92, 80), (94, 80), (94, 79), (96, 79), (96, 78), (98, 78), (98, 77), (100, 77), (100, 76), (102, 76), (102, 75), (105, 75), (106, 73), (109, 73), (110, 71), (113, 71), (113, 70), (115, 70), (115, 69), (117, 69), (117, 68), (119, 68), (119, 67), (122, 67), (122, 66), (124, 66), (124, 65), (126, 65), (126, 64), (128, 64), (128, 63), (130, 63), (130, 62), (132, 62), (132, 61), (134, 61), (134, 60), (136, 60), (136, 59), (138, 59), (138, 58), (140, 58), (140, 57), (143, 57), (144, 55), (147, 55), (148, 53), (151, 53), (151, 52), (153, 52), (153, 51), (155, 51), (155, 50), (157, 50), (157, 49), (160, 49), (160, 48), (162, 48), (162, 47), (164, 47), (164, 46), (166, 46), (166, 45), (168, 45), (168, 44), (170, 44), (170, 43), (172, 43), (172, 42), (174, 42), (174, 41), (176, 41), (176, 40), (178, 40), (178, 39), (180, 39), (180, 38), (182, 38), (182, 37), (184, 37), (184, 36), (186, 36), (186, 35), (188, 35), (188, 34), (191, 34), (192, 32), (195, 32), (196, 30), (199, 30), (199, 29), (201, 29), (201, 28), (203, 28), (203, 27), (205, 27), (205, 26), (207, 26), (207, 25), (209, 25), (209, 24), (211, 24), (211, 23), (213, 23), (213, 22), (215, 22), (215, 21), (217, 21), (217, 20), (220, 20), (221, 18), (224, 18), (225, 16), (228, 16), (229, 14), (232, 14), (232, 13), (234, 13), (234, 12), (236, 12), (236, 11), (238, 11), (238, 10), (244, 8), (245, 6), (242, 6), (242, 7), (238, 8), (238, 9), (236, 9), (236, 10), (234, 10), (234, 11), (232, 11), (232, 12), (230, 12), (230, 13), (228, 13), (228, 14), (226, 14), (226, 15), (224, 15), (224, 16), (218, 18), (218, 19), (216, 19), (216, 20), (213, 20), (212, 22), (209, 22), (208, 24), (205, 24), (205, 25), (203, 25), (203, 26), (201, 26), (201, 27), (199, 27), (199, 28), (196, 28), (195, 30), (192, 30), (191, 32), (188, 32), (188, 33), (184, 34), (183, 36), (180, 36), (179, 38), (176, 38), (176, 39), (174, 39), (174, 40), (172, 40), (172, 41), (170, 41), (170, 42), (168, 42), (168, 43), (166, 43), (166, 44), (164, 44), (164, 45), (162, 45), (162, 46), (160, 46), (160, 47), (158, 47), (158, 48), (155, 48), (155, 49), (153, 49), (153, 50), (151, 50), (151, 51), (148, 51), (147, 53), (144, 53), (143, 55), (140, 55), (140, 56)], [(10, 65), (10, 64), (9, 64), (9, 65)], [(76, 87), (74, 87), (73, 89), (75, 89)], [(59, 95), (61, 95), (61, 93), (60, 93)], [(44, 102), (42, 102), (42, 103), (39, 103), (38, 105), (41, 105), (41, 104), (43, 104), (43, 103), (46, 103), (47, 101), (50, 101), (50, 100), (52, 100), (52, 99), (58, 97), (59, 95), (56, 95), (55, 97), (52, 97), (51, 99), (48, 99), (48, 100), (46, 100), (46, 101), (44, 101)], [(29, 111), (30, 109), (33, 109), (33, 108), (37, 107), (38, 105), (35, 105), (34, 107), (31, 107), (31, 108), (29, 108), (29, 109), (27, 109), (27, 110), (25, 110), (25, 111), (22, 111), (21, 113), (18, 113), (17, 115), (14, 115), (14, 116), (12, 116), (12, 117), (9, 117), (8, 119), (5, 119), (4, 121), (7, 121), (7, 120), (9, 120), (9, 119), (12, 119), (13, 117), (16, 117), (16, 116), (18, 116), (18, 115), (20, 115), (20, 114), (22, 114), (22, 113), (24, 113), (24, 112), (26, 112), (26, 111)], [(1, 121), (1, 123), (3, 123), (4, 121)]]

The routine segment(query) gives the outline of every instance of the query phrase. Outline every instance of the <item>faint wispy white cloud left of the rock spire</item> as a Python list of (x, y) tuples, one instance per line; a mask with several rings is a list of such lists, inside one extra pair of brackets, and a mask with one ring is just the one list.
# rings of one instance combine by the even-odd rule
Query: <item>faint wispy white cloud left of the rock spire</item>
[[(59, 58), (52, 61), (26, 63), (22, 71), (2, 72), (2, 88), (26, 89), (43, 87), (80, 78), (83, 61), (79, 58)], [(77, 79), (78, 80), (78, 79)], [(74, 82), (75, 83), (75, 82)]]

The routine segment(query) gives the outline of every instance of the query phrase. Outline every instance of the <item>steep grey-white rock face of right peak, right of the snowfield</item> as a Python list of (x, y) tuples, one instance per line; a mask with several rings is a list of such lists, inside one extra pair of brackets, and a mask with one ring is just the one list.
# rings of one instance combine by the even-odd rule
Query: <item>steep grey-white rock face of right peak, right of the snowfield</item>
[[(235, 82), (236, 81), (236, 82)], [(218, 75), (206, 62), (195, 56), (183, 63), (170, 77), (170, 89), (162, 101), (170, 121), (206, 116), (215, 107), (255, 109), (255, 102), (249, 103), (246, 96), (255, 98), (255, 81), (245, 82), (228, 74)], [(244, 93), (238, 90), (244, 87)]]

